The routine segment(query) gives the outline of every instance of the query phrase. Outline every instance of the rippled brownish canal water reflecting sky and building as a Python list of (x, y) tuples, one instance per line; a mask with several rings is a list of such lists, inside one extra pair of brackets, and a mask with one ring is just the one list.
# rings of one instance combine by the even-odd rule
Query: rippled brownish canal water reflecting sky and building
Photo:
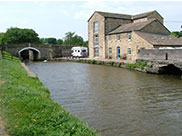
[(70, 63), (28, 66), (51, 97), (103, 136), (181, 136), (182, 80)]

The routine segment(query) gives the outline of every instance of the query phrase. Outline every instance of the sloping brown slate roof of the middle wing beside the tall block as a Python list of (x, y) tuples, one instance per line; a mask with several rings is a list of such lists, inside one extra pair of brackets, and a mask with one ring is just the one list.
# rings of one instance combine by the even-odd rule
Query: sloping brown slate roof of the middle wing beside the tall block
[(108, 34), (116, 34), (116, 33), (131, 32), (131, 31), (139, 31), (139, 30), (141, 30), (142, 28), (144, 28), (145, 26), (149, 25), (150, 23), (152, 23), (155, 20), (156, 19), (150, 19), (150, 20), (143, 21), (143, 22), (123, 24), (123, 25), (118, 26), (116, 29), (114, 29), (113, 31), (109, 32)]

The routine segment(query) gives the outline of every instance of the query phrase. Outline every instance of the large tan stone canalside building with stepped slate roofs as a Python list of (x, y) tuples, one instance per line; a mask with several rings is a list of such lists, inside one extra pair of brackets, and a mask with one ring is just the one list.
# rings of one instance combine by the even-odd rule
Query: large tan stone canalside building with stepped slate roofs
[(136, 60), (141, 48), (182, 47), (157, 11), (125, 15), (95, 11), (88, 20), (91, 59)]

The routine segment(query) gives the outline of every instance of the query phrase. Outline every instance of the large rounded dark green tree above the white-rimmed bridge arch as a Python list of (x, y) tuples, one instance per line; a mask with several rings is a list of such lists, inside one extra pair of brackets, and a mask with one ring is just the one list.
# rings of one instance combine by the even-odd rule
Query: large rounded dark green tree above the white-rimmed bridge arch
[(9, 43), (37, 43), (38, 34), (32, 29), (9, 28), (3, 37), (5, 44)]

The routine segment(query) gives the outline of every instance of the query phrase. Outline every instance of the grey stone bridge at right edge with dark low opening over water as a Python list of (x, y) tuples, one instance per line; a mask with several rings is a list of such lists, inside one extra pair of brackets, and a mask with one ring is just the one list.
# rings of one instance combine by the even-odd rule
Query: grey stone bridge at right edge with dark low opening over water
[(182, 49), (141, 49), (137, 60), (148, 63), (148, 73), (182, 76)]

